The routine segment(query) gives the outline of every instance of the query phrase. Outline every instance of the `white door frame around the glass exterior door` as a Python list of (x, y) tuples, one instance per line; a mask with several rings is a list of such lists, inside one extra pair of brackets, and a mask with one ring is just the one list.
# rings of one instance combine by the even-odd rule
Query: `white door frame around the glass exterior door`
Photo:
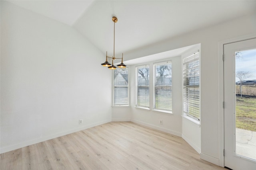
[[(224, 45), (256, 38), (256, 34), (249, 34), (218, 42), (218, 112), (219, 112), (219, 166), (224, 167)], [(224, 59), (225, 60), (225, 59)]]

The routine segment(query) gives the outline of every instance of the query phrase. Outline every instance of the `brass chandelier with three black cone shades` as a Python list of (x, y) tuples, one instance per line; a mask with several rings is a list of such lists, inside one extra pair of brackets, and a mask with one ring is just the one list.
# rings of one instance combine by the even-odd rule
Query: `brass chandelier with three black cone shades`
[[(115, 25), (116, 25), (116, 22), (117, 22), (117, 18), (112, 17), (112, 21), (114, 22), (114, 55), (112, 57), (108, 57), (108, 51), (107, 51), (106, 52), (106, 61), (105, 61), (105, 63), (102, 63), (101, 65), (102, 66), (107, 66), (109, 69), (114, 70), (114, 69), (116, 69), (116, 66), (114, 66), (114, 64), (113, 64), (113, 61), (115, 59), (122, 59), (121, 63), (117, 65), (119, 68), (126, 68), (126, 65), (123, 63), (123, 54), (122, 54), (122, 58), (116, 58), (115, 57)], [(112, 59), (112, 64), (108, 63), (108, 58)]]

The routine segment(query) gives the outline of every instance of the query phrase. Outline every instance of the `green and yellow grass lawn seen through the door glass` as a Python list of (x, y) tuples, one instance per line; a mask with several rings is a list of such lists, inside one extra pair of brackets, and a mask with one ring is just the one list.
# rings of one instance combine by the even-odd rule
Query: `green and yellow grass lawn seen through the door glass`
[(236, 96), (236, 127), (256, 131), (256, 98)]

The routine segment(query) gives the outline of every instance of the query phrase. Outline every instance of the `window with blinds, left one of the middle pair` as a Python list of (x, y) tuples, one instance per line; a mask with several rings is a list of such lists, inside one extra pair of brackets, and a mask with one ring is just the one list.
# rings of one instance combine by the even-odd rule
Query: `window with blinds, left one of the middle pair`
[(149, 108), (149, 65), (136, 66), (136, 107)]

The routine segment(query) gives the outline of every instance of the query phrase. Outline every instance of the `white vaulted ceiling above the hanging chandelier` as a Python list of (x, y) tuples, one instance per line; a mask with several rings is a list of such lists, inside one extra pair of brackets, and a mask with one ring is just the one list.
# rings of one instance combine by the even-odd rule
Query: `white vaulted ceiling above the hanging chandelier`
[[(256, 12), (256, 1), (26, 0), (9, 1), (71, 25), (102, 53), (122, 53)], [(118, 56), (117, 56), (118, 55)]]

